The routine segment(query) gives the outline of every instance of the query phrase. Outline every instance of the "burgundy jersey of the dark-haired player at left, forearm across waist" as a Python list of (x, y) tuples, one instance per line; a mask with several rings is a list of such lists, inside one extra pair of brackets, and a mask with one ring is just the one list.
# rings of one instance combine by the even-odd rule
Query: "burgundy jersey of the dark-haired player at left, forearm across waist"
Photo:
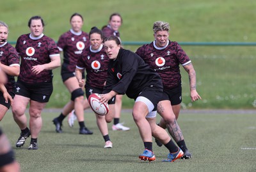
[(30, 34), (21, 35), (15, 48), (21, 61), (19, 81), (28, 84), (52, 81), (52, 70), (43, 70), (36, 75), (31, 72), (31, 69), (35, 65), (50, 63), (50, 57), (60, 56), (60, 51), (54, 40), (44, 34), (38, 38), (33, 38)]

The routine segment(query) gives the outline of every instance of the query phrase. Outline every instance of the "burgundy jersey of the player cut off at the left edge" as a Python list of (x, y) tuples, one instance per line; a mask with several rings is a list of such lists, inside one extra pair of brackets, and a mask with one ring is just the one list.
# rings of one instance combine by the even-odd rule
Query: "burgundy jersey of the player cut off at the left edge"
[[(20, 58), (14, 47), (10, 43), (5, 42), (0, 45), (0, 60), (3, 65), (6, 66), (20, 66)], [(12, 91), (15, 86), (14, 76), (6, 74), (8, 77), (8, 82), (4, 84), (8, 92)]]

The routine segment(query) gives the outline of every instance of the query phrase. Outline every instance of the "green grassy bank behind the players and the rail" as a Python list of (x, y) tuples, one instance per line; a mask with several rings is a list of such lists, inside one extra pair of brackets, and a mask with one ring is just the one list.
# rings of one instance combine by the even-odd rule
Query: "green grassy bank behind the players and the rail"
[[(1, 2), (0, 20), (10, 27), (9, 41), (28, 33), (28, 20), (41, 15), (44, 33), (54, 40), (70, 29), (74, 12), (84, 16), (83, 30), (102, 27), (113, 12), (121, 13), (124, 42), (151, 42), (156, 20), (170, 23), (170, 40), (177, 42), (256, 42), (256, 1), (147, 1), (147, 0), (9, 0)], [(138, 46), (125, 45), (136, 51)], [(192, 59), (197, 75), (197, 91), (203, 100), (191, 103), (188, 74), (182, 70), (184, 109), (255, 109), (255, 46), (182, 46)], [(54, 70), (54, 92), (47, 107), (63, 107), (70, 99), (61, 81), (60, 68)], [(124, 97), (124, 107), (132, 107)]]

